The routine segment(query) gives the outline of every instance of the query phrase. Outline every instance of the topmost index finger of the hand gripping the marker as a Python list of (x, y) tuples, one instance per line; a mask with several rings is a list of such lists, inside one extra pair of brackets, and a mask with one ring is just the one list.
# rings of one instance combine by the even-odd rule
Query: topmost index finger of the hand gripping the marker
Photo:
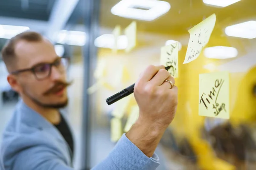
[(145, 69), (145, 71), (143, 71), (143, 73), (140, 75), (140, 81), (143, 81), (143, 82), (150, 81), (154, 77), (154, 75), (156, 75), (157, 72), (160, 69), (163, 69), (163, 68), (165, 68), (163, 65), (160, 65), (160, 66), (150, 65), (150, 66), (148, 66)]

